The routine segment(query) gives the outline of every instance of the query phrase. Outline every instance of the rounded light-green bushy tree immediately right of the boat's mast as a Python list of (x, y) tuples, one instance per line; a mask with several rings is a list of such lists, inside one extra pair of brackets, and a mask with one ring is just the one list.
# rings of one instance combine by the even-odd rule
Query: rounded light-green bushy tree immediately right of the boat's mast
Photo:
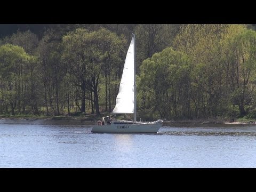
[(188, 89), (188, 63), (187, 55), (174, 51), (172, 47), (143, 61), (138, 77), (139, 108), (158, 111), (163, 118), (179, 117), (179, 108), (183, 105), (180, 98)]

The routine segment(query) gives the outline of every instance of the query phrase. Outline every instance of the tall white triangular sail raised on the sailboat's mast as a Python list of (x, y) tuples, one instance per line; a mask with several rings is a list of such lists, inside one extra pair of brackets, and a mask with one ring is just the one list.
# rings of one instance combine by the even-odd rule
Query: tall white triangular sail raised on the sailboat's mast
[(114, 114), (134, 113), (134, 37), (126, 54)]

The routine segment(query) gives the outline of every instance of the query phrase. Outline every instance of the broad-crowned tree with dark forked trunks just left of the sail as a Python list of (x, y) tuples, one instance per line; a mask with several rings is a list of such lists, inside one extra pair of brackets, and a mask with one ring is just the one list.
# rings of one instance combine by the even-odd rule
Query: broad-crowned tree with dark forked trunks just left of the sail
[[(81, 111), (85, 113), (85, 99), (95, 104), (99, 111), (99, 78), (103, 73), (109, 74), (111, 63), (119, 60), (118, 51), (124, 39), (104, 28), (98, 31), (76, 29), (63, 37), (64, 51), (62, 59), (69, 63), (69, 73), (77, 77), (76, 85), (82, 90)], [(94, 98), (86, 97), (86, 91), (92, 91)]]

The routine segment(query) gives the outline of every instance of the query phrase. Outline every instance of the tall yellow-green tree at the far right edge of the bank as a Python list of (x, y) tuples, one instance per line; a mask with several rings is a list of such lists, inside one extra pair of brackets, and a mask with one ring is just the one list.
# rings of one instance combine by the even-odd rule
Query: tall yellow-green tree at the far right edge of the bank
[(245, 26), (233, 25), (223, 39), (222, 62), (230, 89), (230, 101), (238, 105), (239, 116), (246, 115), (255, 89), (256, 32)]

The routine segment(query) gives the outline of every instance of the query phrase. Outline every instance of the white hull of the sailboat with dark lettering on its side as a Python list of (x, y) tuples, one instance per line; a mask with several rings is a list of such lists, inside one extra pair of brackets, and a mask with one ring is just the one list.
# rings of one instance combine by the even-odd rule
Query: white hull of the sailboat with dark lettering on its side
[(92, 133), (157, 133), (162, 126), (162, 121), (144, 124), (111, 124), (94, 125)]

